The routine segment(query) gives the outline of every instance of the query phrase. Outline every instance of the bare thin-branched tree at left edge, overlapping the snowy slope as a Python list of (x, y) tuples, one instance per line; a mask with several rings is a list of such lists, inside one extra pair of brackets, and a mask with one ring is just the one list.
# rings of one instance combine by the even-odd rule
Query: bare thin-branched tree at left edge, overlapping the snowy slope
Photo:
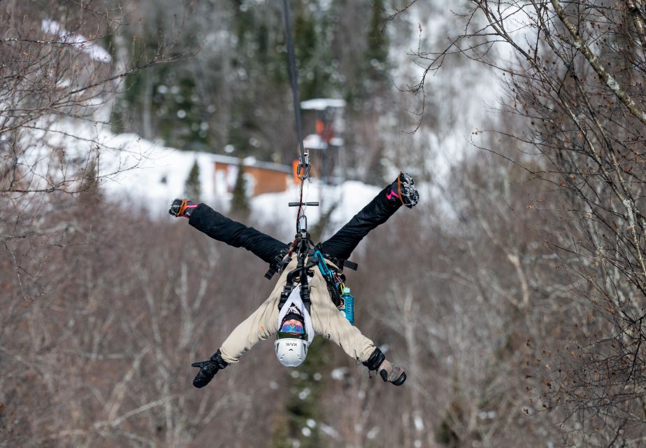
[[(122, 80), (182, 56), (173, 36), (152, 57), (120, 56), (129, 45), (122, 39), (124, 29), (136, 18), (130, 7), (110, 1), (0, 6), (7, 25), (0, 39), (0, 239), (25, 300), (37, 292), (25, 284), (33, 274), (22, 265), (17, 246), (62, 244), (68, 224), (41, 225), (43, 216), (62, 207), (59, 198), (136, 166), (138, 155), (124, 157), (104, 132)], [(178, 22), (176, 32), (180, 28)]]

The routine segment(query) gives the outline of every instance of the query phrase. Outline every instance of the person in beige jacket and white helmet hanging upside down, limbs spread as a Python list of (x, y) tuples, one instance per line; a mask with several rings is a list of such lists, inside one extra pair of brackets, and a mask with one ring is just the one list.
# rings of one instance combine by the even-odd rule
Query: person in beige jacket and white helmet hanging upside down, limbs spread
[[(418, 200), (419, 195), (412, 177), (400, 173), (392, 184), (381, 190), (343, 228), (317, 245), (327, 265), (340, 272), (345, 260), (368, 232), (385, 223), (402, 205), (412, 208)], [(213, 239), (229, 246), (246, 248), (268, 262), (270, 272), (272, 269), (277, 270), (280, 262), (289, 260), (287, 253), (290, 244), (233, 221), (206, 204), (174, 200), (168, 213), (175, 217), (189, 218), (190, 225)], [(403, 384), (406, 374), (401, 367), (389, 362), (371, 339), (361, 334), (333, 304), (320, 269), (311, 269), (310, 272), (310, 311), (301, 300), (300, 284), (291, 290), (279, 309), (288, 274), (296, 269), (297, 261), (294, 257), (282, 266), (282, 274), (268, 299), (231, 332), (210, 359), (192, 364), (193, 367), (199, 367), (193, 386), (206, 386), (218, 370), (237, 363), (245, 351), (274, 334), (277, 335), (274, 343), (276, 357), (286, 367), (296, 367), (303, 363), (308, 346), (317, 334), (332, 339), (345, 353), (368, 367), (368, 370), (378, 371), (384, 381), (396, 386)]]

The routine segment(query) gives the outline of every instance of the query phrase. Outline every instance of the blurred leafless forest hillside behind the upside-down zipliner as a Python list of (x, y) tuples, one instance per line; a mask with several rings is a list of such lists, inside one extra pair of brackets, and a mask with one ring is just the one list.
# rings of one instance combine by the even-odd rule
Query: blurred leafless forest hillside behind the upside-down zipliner
[(408, 381), (317, 340), (192, 388), (266, 266), (102, 189), (136, 167), (97, 130), (292, 162), (280, 2), (5, 0), (0, 447), (644, 446), (643, 0), (291, 7), (347, 179), (422, 191), (347, 274)]

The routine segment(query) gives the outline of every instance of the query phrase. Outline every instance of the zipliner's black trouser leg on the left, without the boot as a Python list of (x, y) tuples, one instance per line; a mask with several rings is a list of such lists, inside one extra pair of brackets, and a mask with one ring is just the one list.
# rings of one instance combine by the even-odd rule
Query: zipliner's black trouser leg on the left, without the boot
[(227, 218), (206, 204), (199, 204), (191, 212), (189, 224), (217, 241), (229, 246), (244, 247), (269, 264), (275, 263), (276, 256), (288, 246), (263, 232)]

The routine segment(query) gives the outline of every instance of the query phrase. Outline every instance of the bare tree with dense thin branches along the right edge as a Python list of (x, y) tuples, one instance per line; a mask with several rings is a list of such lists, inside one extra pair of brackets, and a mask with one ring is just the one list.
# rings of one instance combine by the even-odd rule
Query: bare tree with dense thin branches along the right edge
[[(501, 135), (524, 154), (486, 148), (559, 192), (549, 202), (560, 217), (550, 243), (559, 267), (582, 280), (570, 293), (570, 311), (582, 297), (596, 319), (594, 331), (577, 332), (571, 359), (548, 381), (546, 406), (564, 412), (570, 443), (640, 444), (645, 7), (558, 0), (468, 5), (464, 32), (450, 36), (443, 50), (417, 52), (426, 71), (414, 91), (423, 93), (426, 75), (453, 54), (494, 66), (506, 80), (502, 109), (521, 126)], [(536, 150), (540, 157), (533, 158)]]

